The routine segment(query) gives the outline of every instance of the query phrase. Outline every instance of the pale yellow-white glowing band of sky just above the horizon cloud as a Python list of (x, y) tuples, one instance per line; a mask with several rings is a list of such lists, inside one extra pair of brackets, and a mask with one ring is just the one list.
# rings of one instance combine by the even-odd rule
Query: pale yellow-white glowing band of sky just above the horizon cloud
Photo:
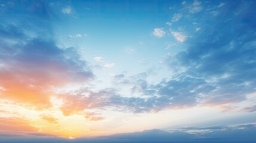
[[(227, 116), (214, 107), (194, 107), (140, 114), (104, 110), (104, 120), (91, 121), (85, 117), (85, 113), (64, 116), (60, 110), (63, 101), (57, 97), (51, 97), (50, 101), (54, 103), (53, 107), (38, 110), (30, 106), (27, 107), (26, 104), (18, 104), (11, 100), (1, 100), (0, 117), (4, 118), (7, 123), (17, 123), (17, 131), (30, 130), (31, 132), (75, 139), (81, 136), (163, 129), (178, 125), (189, 126), (197, 124), (198, 120), (196, 119), (201, 117), (203, 119), (200, 122), (212, 120), (214, 117), (221, 119), (221, 117)], [(8, 122), (9, 119), (13, 119), (12, 122)], [(18, 120), (20, 119), (23, 122), (19, 123)]]

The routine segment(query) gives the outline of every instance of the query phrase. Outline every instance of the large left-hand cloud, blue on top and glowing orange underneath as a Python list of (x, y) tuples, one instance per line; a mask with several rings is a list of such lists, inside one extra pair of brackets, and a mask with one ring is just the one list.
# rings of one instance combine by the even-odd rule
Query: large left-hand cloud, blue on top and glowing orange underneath
[[(88, 82), (94, 79), (94, 74), (75, 48), (57, 46), (51, 27), (51, 11), (45, 11), (47, 5), (41, 2), (24, 2), (22, 5), (24, 7), (14, 5), (17, 10), (24, 11), (13, 17), (16, 24), (4, 21), (0, 24), (0, 63), (4, 63), (0, 68), (0, 79), (5, 81), (0, 83), (5, 89), (1, 90), (4, 95), (1, 98), (38, 109), (48, 108), (51, 107), (53, 88)], [(27, 7), (36, 8), (30, 11)], [(8, 18), (2, 17), (2, 20), (8, 21)], [(23, 20), (30, 22), (23, 23)]]

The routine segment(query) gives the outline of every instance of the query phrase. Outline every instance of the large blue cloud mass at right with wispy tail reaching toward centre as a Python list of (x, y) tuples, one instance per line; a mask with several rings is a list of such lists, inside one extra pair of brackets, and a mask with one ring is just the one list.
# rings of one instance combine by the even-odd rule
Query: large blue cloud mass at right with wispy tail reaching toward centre
[[(255, 92), (256, 85), (254, 18), (249, 14), (251, 5), (246, 7), (239, 15), (230, 11), (217, 19), (205, 19), (214, 18), (214, 26), (206, 24), (202, 27), (204, 30), (187, 42), (186, 51), (167, 55), (166, 64), (175, 71), (171, 78), (162, 79), (155, 85), (143, 78), (115, 80), (114, 83), (132, 85), (131, 92), (148, 95), (148, 98), (128, 98), (115, 93), (107, 98), (107, 105), (135, 113), (196, 105), (217, 106), (228, 111), (228, 105), (245, 101), (247, 94)], [(234, 11), (240, 8), (237, 5)], [(225, 21), (230, 15), (233, 15), (232, 20)], [(232, 26), (228, 28), (227, 24)], [(171, 33), (179, 42), (187, 38), (181, 32)], [(247, 111), (254, 111), (254, 107), (248, 107)]]

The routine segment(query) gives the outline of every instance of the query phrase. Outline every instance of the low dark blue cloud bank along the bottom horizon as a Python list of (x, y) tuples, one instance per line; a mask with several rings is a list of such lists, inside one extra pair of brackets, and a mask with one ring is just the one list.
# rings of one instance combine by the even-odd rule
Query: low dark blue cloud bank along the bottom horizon
[[(167, 142), (179, 142), (179, 143), (203, 143), (203, 142), (248, 142), (253, 143), (256, 141), (255, 124), (236, 125), (236, 126), (218, 126), (207, 128), (176, 128), (168, 130), (151, 129), (143, 130), (141, 132), (132, 133), (117, 133), (108, 136), (95, 136), (90, 138), (75, 138), (72, 142), (106, 142), (106, 143), (167, 143)], [(194, 132), (192, 132), (194, 130)], [(12, 138), (6, 138), (1, 136), (0, 142), (70, 142), (65, 138), (53, 138), (51, 136), (34, 135), (34, 137), (26, 138), (23, 136), (13, 136)]]

